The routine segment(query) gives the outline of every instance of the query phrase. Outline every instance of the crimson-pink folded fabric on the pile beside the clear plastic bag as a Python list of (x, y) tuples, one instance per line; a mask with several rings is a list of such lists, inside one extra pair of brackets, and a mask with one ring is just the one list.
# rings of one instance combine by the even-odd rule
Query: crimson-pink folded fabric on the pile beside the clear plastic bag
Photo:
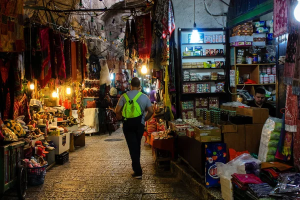
[(236, 185), (238, 188), (246, 190), (248, 184), (259, 184), (262, 181), (256, 175), (249, 173), (249, 174), (240, 174), (240, 173), (233, 173), (232, 175), (232, 184)]

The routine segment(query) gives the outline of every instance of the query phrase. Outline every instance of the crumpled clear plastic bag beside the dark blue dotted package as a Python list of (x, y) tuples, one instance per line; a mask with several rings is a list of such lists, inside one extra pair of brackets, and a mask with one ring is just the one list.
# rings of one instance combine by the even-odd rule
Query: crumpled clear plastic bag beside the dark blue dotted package
[(226, 164), (222, 162), (216, 162), (217, 175), (231, 178), (233, 173), (246, 174), (247, 171), (253, 171), (260, 168), (261, 161), (255, 159), (248, 153), (243, 153)]

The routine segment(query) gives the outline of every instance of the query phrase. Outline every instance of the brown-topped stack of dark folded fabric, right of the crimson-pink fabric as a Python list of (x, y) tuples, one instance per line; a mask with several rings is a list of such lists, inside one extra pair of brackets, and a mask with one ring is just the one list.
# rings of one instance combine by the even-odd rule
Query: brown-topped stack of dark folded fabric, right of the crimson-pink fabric
[(260, 168), (260, 179), (267, 182), (271, 186), (275, 186), (278, 182), (280, 174), (295, 171), (293, 166), (281, 162), (262, 162)]

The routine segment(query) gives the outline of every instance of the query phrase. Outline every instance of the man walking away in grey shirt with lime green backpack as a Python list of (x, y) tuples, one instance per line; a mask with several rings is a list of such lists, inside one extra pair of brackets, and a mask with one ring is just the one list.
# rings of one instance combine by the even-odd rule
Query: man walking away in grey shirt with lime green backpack
[(131, 79), (131, 90), (121, 95), (115, 107), (115, 113), (123, 118), (123, 133), (128, 145), (134, 178), (141, 178), (140, 140), (144, 132), (144, 124), (153, 114), (150, 99), (140, 91), (140, 80)]

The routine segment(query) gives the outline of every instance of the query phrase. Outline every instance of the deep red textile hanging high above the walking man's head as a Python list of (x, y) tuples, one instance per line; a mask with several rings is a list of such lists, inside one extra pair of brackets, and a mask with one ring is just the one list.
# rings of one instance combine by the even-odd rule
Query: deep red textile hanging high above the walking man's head
[(136, 35), (140, 58), (149, 58), (151, 51), (151, 17), (150, 14), (136, 17)]

